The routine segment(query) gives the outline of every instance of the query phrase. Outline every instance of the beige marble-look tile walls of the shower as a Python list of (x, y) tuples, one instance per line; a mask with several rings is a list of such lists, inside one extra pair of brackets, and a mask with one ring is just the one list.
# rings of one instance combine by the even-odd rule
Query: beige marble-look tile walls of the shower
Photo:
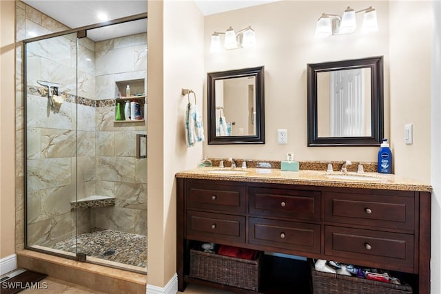
[[(17, 2), (17, 41), (29, 38), (31, 31), (41, 35), (66, 29), (61, 23)], [(144, 45), (141, 45), (141, 39)], [(17, 223), (24, 225), (25, 193), (21, 187), (24, 180), (23, 160), (26, 159), (28, 244), (50, 246), (75, 233), (90, 231), (93, 227), (146, 235), (147, 160), (136, 159), (134, 154), (136, 134), (146, 134), (146, 127), (140, 123), (114, 125), (114, 107), (105, 106), (114, 105), (116, 81), (145, 78), (146, 39), (146, 34), (96, 44), (89, 39), (80, 39), (79, 105), (71, 95), (75, 94), (77, 87), (76, 80), (72, 78), (76, 76), (75, 36), (60, 36), (29, 44), (26, 105), (28, 158), (23, 158), (23, 48), (17, 46), (16, 217)], [(95, 52), (95, 47), (101, 50)], [(118, 73), (112, 72), (113, 67), (105, 65), (127, 61), (125, 54), (133, 60), (132, 67), (124, 69), (127, 72), (122, 72), (121, 67)], [(140, 65), (143, 60), (144, 66)], [(96, 75), (97, 72), (99, 75)], [(37, 85), (37, 79), (60, 83), (60, 91), (67, 100), (56, 109), (50, 109), (47, 96), (35, 91), (41, 87)], [(96, 100), (102, 101), (96, 103)], [(76, 191), (79, 198), (115, 196), (116, 205), (71, 211), (70, 201), (74, 200)], [(77, 232), (75, 213), (78, 213)], [(23, 249), (23, 227), (18, 227), (17, 249)]]

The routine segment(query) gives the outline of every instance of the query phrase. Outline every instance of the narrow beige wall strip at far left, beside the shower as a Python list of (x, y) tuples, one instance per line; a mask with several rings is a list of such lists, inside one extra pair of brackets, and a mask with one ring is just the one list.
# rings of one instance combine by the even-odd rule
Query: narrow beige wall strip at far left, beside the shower
[(0, 1), (0, 258), (15, 252), (14, 28), (15, 1)]

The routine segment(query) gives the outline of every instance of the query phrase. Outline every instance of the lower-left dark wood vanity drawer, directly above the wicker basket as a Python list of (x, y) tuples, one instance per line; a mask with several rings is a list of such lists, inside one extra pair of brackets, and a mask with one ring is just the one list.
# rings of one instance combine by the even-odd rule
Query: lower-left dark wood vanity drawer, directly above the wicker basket
[(187, 238), (245, 242), (245, 216), (187, 211)]

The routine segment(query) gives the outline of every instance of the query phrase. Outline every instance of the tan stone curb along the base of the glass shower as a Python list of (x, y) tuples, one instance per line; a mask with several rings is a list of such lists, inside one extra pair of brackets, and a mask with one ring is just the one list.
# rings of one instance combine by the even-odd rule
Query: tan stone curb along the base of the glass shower
[(77, 262), (54, 255), (23, 250), (17, 252), (19, 268), (45, 273), (103, 293), (146, 292), (147, 275), (98, 264)]

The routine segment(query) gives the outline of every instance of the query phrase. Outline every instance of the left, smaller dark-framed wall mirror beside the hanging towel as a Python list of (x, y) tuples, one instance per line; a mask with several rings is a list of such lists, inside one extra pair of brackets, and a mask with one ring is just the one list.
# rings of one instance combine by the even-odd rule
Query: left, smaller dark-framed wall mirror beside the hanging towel
[(264, 144), (264, 67), (207, 74), (208, 144)]

